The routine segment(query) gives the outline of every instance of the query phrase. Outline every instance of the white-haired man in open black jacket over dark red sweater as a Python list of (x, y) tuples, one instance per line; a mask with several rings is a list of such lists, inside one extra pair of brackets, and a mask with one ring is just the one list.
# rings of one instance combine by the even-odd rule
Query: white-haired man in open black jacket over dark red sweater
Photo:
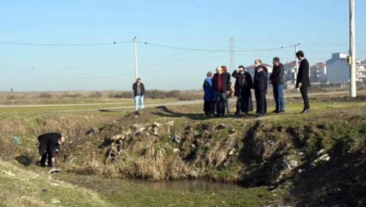
[(228, 72), (223, 72), (223, 69), (221, 67), (217, 67), (216, 73), (214, 74), (212, 81), (216, 100), (216, 115), (218, 117), (224, 116), (226, 99), (229, 95), (230, 74)]

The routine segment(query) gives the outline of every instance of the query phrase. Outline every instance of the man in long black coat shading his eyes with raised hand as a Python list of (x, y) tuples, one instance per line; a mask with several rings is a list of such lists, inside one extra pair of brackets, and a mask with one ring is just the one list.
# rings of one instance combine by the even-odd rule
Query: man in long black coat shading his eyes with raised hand
[(234, 85), (234, 96), (237, 97), (235, 114), (240, 114), (240, 111), (244, 113), (253, 111), (252, 94), (250, 92), (250, 89), (253, 87), (253, 80), (250, 73), (244, 69), (244, 66), (239, 66), (231, 74), (236, 79)]

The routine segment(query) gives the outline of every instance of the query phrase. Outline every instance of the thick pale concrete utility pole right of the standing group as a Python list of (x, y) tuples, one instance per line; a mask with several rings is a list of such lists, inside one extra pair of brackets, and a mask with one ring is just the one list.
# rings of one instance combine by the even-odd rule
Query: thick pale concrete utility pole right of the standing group
[(355, 0), (350, 0), (350, 96), (356, 97)]

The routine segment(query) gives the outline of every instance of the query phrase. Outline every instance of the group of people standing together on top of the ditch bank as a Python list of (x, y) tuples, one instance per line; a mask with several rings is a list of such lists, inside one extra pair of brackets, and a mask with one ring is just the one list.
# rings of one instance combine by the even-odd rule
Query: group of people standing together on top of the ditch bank
[[(305, 59), (302, 51), (297, 52), (296, 57), (301, 61), (296, 79), (296, 88), (300, 88), (304, 100), (304, 109), (301, 113), (309, 113), (310, 105), (307, 90), (310, 87), (309, 62)], [(236, 79), (234, 90), (231, 88), (231, 77)], [(262, 61), (259, 59), (255, 60), (253, 79), (243, 66), (239, 66), (231, 75), (227, 72), (226, 66), (218, 66), (215, 74), (212, 74), (211, 71), (207, 73), (207, 78), (203, 83), (204, 116), (213, 116), (215, 112), (218, 117), (224, 116), (226, 108), (229, 113), (229, 97), (232, 93), (237, 97), (235, 114), (241, 112), (247, 114), (249, 111), (253, 111), (251, 89), (254, 89), (257, 116), (265, 116), (267, 113), (266, 94), (268, 83), (273, 86), (275, 102), (273, 113), (284, 113), (284, 67), (278, 57), (273, 59), (273, 71), (270, 77), (268, 77), (268, 69), (262, 65)]]

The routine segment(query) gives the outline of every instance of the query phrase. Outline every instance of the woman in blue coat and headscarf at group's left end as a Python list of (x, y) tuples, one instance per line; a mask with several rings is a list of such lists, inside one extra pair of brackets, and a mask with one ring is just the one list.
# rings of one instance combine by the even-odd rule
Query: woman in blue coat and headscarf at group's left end
[(212, 85), (212, 72), (211, 71), (209, 71), (207, 73), (207, 78), (203, 82), (203, 91), (204, 91), (203, 111), (205, 112), (205, 114), (203, 116), (208, 116), (208, 115), (213, 116), (213, 102), (214, 102), (215, 94), (214, 94), (214, 88)]

